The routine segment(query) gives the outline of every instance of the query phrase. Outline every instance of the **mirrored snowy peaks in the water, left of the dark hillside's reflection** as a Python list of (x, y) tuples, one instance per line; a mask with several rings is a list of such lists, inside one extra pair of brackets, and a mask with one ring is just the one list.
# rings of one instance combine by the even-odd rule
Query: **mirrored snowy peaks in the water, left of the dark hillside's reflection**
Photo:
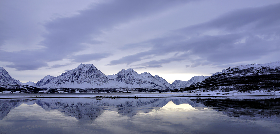
[(193, 107), (203, 107), (190, 99), (119, 99), (119, 100), (95, 100), (95, 99), (37, 99), (37, 100), (2, 100), (0, 101), (1, 118), (3, 119), (11, 109), (22, 103), (33, 105), (36, 103), (46, 111), (56, 109), (66, 115), (81, 120), (95, 120), (105, 110), (116, 110), (122, 116), (132, 117), (138, 112), (149, 113), (153, 109), (162, 108), (169, 101), (180, 105), (188, 103)]

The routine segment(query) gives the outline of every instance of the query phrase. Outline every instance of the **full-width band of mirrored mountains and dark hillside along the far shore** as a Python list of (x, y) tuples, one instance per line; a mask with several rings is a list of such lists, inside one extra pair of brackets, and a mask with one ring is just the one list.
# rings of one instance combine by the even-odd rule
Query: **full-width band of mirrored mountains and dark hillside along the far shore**
[[(171, 102), (172, 101), (172, 102)], [(133, 117), (136, 113), (149, 113), (162, 107), (203, 108), (211, 107), (229, 117), (280, 118), (280, 98), (271, 99), (214, 99), (214, 98), (141, 98), (141, 99), (86, 99), (86, 98), (46, 98), (0, 100), (0, 120), (10, 110), (22, 103), (36, 103), (46, 111), (58, 110), (79, 120), (95, 120), (105, 110), (116, 111), (121, 116)], [(183, 105), (181, 105), (183, 104)], [(179, 107), (183, 106), (183, 107)]]

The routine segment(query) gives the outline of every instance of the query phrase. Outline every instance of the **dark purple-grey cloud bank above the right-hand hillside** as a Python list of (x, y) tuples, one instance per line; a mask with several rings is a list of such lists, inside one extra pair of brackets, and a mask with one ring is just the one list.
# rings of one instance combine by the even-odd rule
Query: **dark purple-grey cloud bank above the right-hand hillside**
[(125, 56), (111, 61), (109, 65), (130, 65), (147, 56), (156, 57), (176, 52), (184, 54), (136, 66), (160, 67), (172, 61), (190, 61), (192, 65), (187, 66), (191, 67), (218, 66), (259, 59), (280, 50), (279, 12), (280, 4), (233, 11), (211, 21), (178, 29), (167, 36), (146, 41), (145, 43), (153, 44), (151, 50)]

